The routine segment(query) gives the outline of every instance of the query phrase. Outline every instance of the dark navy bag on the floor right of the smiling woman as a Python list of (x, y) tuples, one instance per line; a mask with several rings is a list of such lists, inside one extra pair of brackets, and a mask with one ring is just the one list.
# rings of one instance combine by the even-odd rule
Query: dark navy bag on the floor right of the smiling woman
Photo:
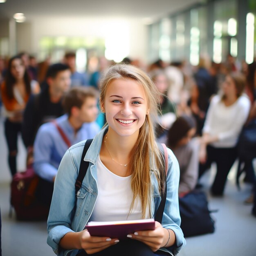
[(181, 229), (185, 237), (214, 232), (214, 220), (203, 191), (191, 191), (179, 198)]

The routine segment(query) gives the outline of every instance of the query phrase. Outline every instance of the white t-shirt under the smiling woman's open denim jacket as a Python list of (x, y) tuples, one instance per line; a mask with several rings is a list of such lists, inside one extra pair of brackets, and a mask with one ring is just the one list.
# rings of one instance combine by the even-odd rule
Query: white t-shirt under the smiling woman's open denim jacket
[[(142, 218), (141, 200), (135, 200), (132, 212), (133, 193), (131, 175), (120, 177), (104, 166), (100, 157), (97, 159), (98, 197), (90, 221), (140, 220)], [(146, 217), (148, 214), (146, 214)]]

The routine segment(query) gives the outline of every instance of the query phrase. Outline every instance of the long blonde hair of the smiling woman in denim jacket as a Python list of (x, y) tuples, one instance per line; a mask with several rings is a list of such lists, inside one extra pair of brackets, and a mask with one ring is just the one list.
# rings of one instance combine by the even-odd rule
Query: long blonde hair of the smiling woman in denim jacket
[[(151, 115), (159, 113), (159, 92), (149, 76), (132, 65), (113, 65), (106, 72), (100, 83), (100, 102), (104, 103), (109, 83), (113, 79), (130, 79), (140, 83), (145, 91), (150, 115), (146, 115), (144, 124), (139, 129), (139, 137), (132, 150), (130, 170), (132, 175), (131, 188), (133, 192), (130, 212), (137, 196), (141, 199), (142, 218), (146, 216), (146, 208), (150, 209), (150, 171), (157, 177), (159, 191), (164, 186), (164, 160), (155, 142), (155, 134)], [(130, 214), (130, 213), (129, 213)], [(151, 213), (150, 213), (151, 214)]]

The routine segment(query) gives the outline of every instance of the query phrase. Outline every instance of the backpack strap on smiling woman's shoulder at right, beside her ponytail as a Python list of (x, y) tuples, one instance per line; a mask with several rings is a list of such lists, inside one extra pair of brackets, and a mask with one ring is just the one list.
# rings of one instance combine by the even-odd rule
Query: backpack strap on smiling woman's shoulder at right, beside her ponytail
[[(159, 223), (162, 223), (162, 218), (164, 214), (164, 207), (165, 207), (165, 202), (166, 202), (166, 194), (167, 194), (167, 182), (166, 182), (166, 175), (168, 171), (168, 153), (167, 153), (167, 148), (165, 144), (161, 144), (163, 149), (164, 149), (164, 164), (165, 164), (165, 186), (164, 186), (164, 191), (161, 193), (161, 202), (159, 204), (159, 207), (157, 209), (157, 212), (155, 213), (155, 221), (158, 221)], [(162, 151), (162, 150), (161, 150)]]

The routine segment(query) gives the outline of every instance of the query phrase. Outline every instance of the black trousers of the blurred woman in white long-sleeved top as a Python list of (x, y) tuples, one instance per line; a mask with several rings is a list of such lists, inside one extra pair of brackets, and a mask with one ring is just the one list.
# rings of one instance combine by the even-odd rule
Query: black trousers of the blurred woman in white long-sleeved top
[(222, 195), (224, 192), (227, 175), (230, 168), (237, 158), (237, 148), (214, 148), (207, 146), (207, 162), (199, 166), (199, 178), (211, 166), (211, 163), (216, 162), (217, 173), (214, 182), (211, 186), (213, 195)]

